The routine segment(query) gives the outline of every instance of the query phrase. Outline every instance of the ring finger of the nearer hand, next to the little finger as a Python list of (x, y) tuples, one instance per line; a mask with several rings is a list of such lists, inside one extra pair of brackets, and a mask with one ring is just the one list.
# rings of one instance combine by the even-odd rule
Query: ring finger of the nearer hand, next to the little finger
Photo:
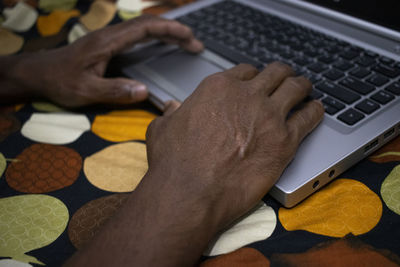
[(271, 100), (280, 103), (281, 112), (286, 115), (311, 92), (311, 89), (312, 84), (305, 77), (289, 77), (272, 93)]

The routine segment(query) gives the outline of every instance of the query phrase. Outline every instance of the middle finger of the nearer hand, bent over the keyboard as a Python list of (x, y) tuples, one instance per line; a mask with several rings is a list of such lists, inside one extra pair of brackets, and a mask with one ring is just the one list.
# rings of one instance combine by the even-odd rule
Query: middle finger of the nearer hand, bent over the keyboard
[(252, 80), (252, 84), (256, 90), (264, 90), (270, 95), (287, 77), (293, 75), (294, 71), (288, 65), (273, 62)]

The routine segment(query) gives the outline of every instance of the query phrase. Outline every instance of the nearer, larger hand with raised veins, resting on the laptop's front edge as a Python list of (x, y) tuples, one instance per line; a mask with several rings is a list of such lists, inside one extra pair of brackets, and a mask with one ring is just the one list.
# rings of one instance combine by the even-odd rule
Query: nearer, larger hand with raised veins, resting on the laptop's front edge
[(157, 194), (216, 218), (216, 231), (256, 205), (324, 114), (311, 101), (288, 116), (311, 90), (293, 75), (281, 63), (261, 73), (238, 65), (206, 78), (180, 108), (153, 121), (147, 146), (149, 178), (163, 177)]

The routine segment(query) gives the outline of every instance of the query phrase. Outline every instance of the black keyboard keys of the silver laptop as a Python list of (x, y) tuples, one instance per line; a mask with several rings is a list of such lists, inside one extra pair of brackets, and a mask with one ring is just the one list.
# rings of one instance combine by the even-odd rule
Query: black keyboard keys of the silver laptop
[(209, 50), (236, 64), (292, 66), (313, 83), (310, 96), (346, 125), (400, 96), (400, 62), (240, 3), (219, 2), (178, 20)]

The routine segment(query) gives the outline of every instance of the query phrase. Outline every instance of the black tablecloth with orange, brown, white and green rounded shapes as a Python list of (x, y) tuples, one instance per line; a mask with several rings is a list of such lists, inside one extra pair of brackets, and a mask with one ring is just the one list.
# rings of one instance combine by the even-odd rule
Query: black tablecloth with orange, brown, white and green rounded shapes
[[(78, 23), (90, 31), (137, 15), (104, 1), (96, 24), (90, 10), (99, 2), (26, 1), (39, 11), (33, 24), (0, 28), (0, 40), (23, 40), (0, 52), (63, 45)], [(42, 102), (2, 107), (0, 266), (59, 266), (90, 240), (135, 193), (147, 170), (145, 131), (158, 115), (148, 102), (74, 112)], [(210, 243), (201, 265), (400, 266), (399, 164), (397, 138), (292, 209), (265, 196)]]

